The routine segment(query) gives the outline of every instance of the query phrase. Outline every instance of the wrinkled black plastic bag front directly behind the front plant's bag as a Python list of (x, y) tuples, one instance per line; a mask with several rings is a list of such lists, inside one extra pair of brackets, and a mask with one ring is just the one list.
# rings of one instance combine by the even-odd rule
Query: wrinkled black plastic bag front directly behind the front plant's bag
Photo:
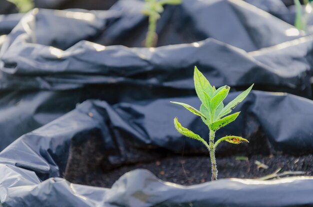
[[(246, 53), (207, 39), (197, 47), (181, 44), (150, 51), (107, 46), (97, 51), (95, 47), (102, 45), (82, 41), (63, 58), (42, 45), (31, 48), (29, 55), (21, 51), (24, 55), (19, 57), (14, 50), (6, 52), (0, 80), (6, 91), (0, 95), (0, 149), (90, 98), (115, 104), (194, 95), (194, 65), (218, 87), (228, 84), (240, 90), (255, 83), (256, 89), (311, 97), (312, 37), (285, 45)], [(16, 67), (7, 67), (11, 60), (17, 62)]]

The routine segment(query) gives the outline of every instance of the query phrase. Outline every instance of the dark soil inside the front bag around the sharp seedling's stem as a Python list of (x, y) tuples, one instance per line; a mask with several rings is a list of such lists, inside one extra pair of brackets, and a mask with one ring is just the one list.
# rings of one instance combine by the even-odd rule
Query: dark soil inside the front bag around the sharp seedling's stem
[[(181, 185), (194, 185), (210, 181), (211, 169), (208, 156), (161, 154), (140, 163), (121, 167), (108, 167), (108, 161), (101, 151), (97, 139), (89, 139), (84, 144), (72, 145), (63, 177), (75, 184), (110, 188), (124, 173), (135, 169), (147, 169), (163, 181)], [(155, 154), (154, 154), (155, 155)], [(144, 155), (143, 155), (144, 156)], [(153, 160), (153, 161), (151, 161)], [(255, 164), (258, 161), (266, 166)], [(218, 179), (267, 176), (281, 168), (286, 171), (303, 171), (303, 175), (313, 175), (313, 156), (292, 156), (275, 153), (273, 155), (250, 155), (249, 157), (217, 157)]]

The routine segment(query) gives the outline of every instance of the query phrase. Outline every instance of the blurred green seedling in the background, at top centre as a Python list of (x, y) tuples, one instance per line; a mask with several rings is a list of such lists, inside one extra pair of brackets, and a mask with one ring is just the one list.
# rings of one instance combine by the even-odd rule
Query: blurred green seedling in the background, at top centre
[(181, 0), (145, 0), (142, 13), (149, 17), (148, 32), (145, 38), (145, 47), (153, 47), (156, 45), (156, 21), (160, 18), (165, 4), (180, 4)]

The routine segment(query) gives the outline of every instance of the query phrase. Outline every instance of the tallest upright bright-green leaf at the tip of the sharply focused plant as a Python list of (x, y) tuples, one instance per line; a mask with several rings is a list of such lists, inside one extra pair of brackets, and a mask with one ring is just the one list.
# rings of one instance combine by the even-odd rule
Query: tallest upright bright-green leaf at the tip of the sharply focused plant
[(202, 103), (205, 103), (205, 96), (203, 94), (203, 91), (207, 93), (209, 97), (212, 96), (214, 93), (214, 89), (211, 86), (211, 84), (208, 82), (208, 80), (204, 77), (204, 75), (198, 70), (196, 66), (194, 66), (194, 88), (197, 96), (201, 100)]

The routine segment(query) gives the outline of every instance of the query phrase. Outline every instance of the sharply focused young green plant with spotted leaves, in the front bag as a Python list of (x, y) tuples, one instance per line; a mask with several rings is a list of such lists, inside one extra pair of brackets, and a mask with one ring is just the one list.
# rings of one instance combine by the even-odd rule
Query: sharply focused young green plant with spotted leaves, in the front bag
[(243, 101), (245, 97), (248, 95), (250, 90), (253, 87), (253, 84), (239, 94), (235, 99), (230, 101), (226, 106), (223, 104), (223, 100), (226, 98), (229, 92), (229, 86), (225, 85), (218, 89), (215, 89), (214, 86), (211, 86), (208, 80), (203, 76), (203, 74), (194, 67), (194, 86), (195, 91), (199, 99), (201, 100), (202, 104), (200, 106), (200, 110), (189, 106), (188, 104), (180, 103), (180, 102), (173, 102), (171, 103), (178, 104), (192, 112), (193, 114), (201, 117), (204, 124), (208, 126), (209, 129), (209, 143), (204, 141), (199, 135), (194, 134), (187, 128), (181, 126), (178, 122), (177, 117), (174, 118), (174, 125), (176, 130), (182, 134), (183, 136), (195, 139), (200, 141), (209, 151), (209, 156), (212, 165), (212, 177), (211, 180), (217, 180), (217, 168), (216, 168), (216, 160), (215, 160), (215, 149), (217, 145), (222, 142), (226, 141), (232, 144), (239, 144), (242, 142), (248, 142), (246, 139), (237, 136), (226, 136), (222, 137), (216, 142), (215, 139), (215, 132), (220, 129), (221, 127), (226, 126), (230, 122), (234, 121), (240, 112), (233, 113), (231, 115), (226, 116), (229, 114), (233, 108), (236, 107), (238, 103)]

